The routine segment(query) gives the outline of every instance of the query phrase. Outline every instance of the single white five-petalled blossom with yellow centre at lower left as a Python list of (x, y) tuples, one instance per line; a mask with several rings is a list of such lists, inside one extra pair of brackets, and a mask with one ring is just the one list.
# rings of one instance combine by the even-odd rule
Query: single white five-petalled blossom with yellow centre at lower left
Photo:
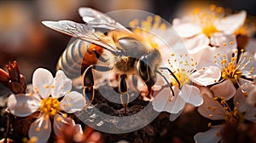
[[(51, 129), (58, 135), (64, 124), (75, 125), (66, 112), (80, 111), (85, 106), (85, 100), (82, 94), (70, 91), (72, 81), (64, 72), (56, 72), (54, 78), (49, 71), (38, 68), (33, 74), (32, 85), (33, 94), (11, 94), (8, 100), (9, 111), (16, 116), (27, 117), (33, 112), (40, 112), (38, 119), (30, 126), (30, 138), (46, 142)], [(50, 118), (54, 121), (53, 127)]]

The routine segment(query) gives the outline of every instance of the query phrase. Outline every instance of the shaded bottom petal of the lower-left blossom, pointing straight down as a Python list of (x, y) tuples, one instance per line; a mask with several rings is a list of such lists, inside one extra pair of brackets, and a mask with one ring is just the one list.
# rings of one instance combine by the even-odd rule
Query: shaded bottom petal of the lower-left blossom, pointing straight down
[(37, 143), (45, 143), (49, 140), (51, 132), (51, 123), (49, 118), (43, 114), (35, 122), (30, 125), (28, 136), (29, 138), (37, 137)]

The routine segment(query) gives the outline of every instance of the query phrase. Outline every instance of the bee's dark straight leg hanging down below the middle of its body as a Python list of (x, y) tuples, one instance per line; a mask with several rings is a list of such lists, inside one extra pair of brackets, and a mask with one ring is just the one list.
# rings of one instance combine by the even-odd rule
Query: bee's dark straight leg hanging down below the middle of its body
[(129, 94), (128, 94), (128, 87), (127, 87), (127, 76), (120, 75), (120, 84), (119, 84), (119, 93), (120, 93), (120, 100), (122, 105), (125, 108), (125, 114), (127, 112), (127, 106), (129, 103)]

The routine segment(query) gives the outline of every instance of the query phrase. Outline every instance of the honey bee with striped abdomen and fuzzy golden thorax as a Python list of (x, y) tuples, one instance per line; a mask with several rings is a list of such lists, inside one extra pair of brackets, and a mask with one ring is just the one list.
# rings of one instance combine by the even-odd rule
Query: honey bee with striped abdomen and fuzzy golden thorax
[[(95, 95), (93, 70), (112, 71), (118, 75), (118, 92), (125, 112), (129, 103), (127, 83), (129, 76), (136, 75), (147, 85), (148, 96), (151, 96), (151, 88), (156, 83), (156, 74), (163, 77), (172, 89), (171, 83), (160, 70), (166, 69), (173, 76), (174, 74), (170, 69), (160, 67), (162, 57), (159, 49), (143, 43), (141, 38), (131, 30), (95, 9), (80, 8), (79, 14), (84, 24), (71, 20), (43, 21), (42, 23), (55, 31), (77, 38), (62, 54), (58, 67), (70, 77), (76, 75), (74, 73), (83, 72), (83, 94), (86, 98), (90, 97), (90, 102)], [(96, 28), (107, 31), (102, 33), (96, 31)], [(99, 66), (98, 61), (108, 66)]]

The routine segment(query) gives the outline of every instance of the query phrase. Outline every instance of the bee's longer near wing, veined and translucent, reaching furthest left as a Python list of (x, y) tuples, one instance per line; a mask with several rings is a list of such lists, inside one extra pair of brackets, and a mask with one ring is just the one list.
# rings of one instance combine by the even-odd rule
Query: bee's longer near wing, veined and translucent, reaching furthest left
[(59, 21), (42, 21), (44, 26), (60, 31), (71, 37), (78, 37), (88, 43), (94, 43), (101, 46), (103, 49), (108, 49), (110, 52), (115, 52), (117, 49), (111, 46), (109, 43), (101, 40), (101, 37), (94, 33), (94, 28), (89, 24), (80, 24), (71, 20), (59, 20)]

